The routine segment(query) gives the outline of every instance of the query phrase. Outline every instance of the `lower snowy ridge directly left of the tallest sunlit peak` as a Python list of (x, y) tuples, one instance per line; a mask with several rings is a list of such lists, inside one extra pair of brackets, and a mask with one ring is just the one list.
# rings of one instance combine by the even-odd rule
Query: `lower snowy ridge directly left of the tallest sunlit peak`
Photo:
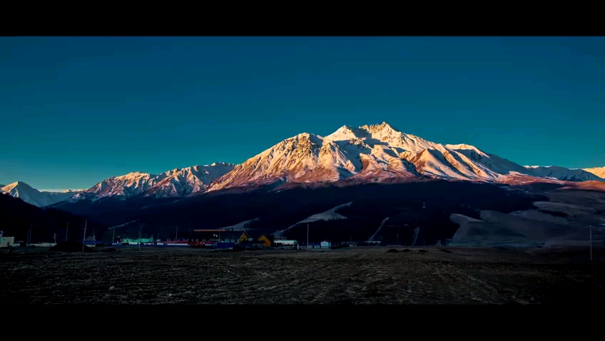
[(175, 168), (159, 175), (133, 172), (113, 176), (74, 196), (73, 200), (106, 196), (129, 198), (139, 194), (148, 196), (189, 195), (205, 189), (212, 180), (232, 170), (234, 166), (231, 163), (213, 163), (205, 166)]

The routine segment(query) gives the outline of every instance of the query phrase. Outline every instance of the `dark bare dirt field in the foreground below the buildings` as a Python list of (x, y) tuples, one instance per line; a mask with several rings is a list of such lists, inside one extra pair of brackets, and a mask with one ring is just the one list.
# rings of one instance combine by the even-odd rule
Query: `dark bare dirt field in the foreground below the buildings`
[[(468, 304), (603, 302), (605, 254), (588, 250), (119, 248), (0, 255), (3, 302)], [(404, 250), (405, 248), (397, 248)], [(421, 253), (420, 250), (426, 250)]]

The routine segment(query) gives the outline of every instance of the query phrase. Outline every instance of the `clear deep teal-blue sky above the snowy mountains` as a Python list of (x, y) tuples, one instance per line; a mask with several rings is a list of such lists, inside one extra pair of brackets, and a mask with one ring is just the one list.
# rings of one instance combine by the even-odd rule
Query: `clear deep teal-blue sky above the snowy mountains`
[(1, 37), (0, 183), (89, 188), (386, 121), (605, 166), (601, 37)]

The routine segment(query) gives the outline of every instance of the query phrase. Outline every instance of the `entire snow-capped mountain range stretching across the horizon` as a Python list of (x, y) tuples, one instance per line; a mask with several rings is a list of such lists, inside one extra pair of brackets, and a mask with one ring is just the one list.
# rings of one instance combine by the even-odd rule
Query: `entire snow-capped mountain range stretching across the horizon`
[(102, 180), (83, 191), (41, 192), (23, 182), (1, 193), (39, 207), (63, 200), (105, 197), (187, 197), (229, 188), (260, 185), (407, 183), (430, 179), (510, 183), (540, 180), (605, 181), (605, 167), (569, 169), (520, 166), (466, 144), (434, 143), (389, 124), (342, 126), (328, 136), (300, 133), (240, 165), (212, 163), (168, 170), (160, 175), (133, 172)]

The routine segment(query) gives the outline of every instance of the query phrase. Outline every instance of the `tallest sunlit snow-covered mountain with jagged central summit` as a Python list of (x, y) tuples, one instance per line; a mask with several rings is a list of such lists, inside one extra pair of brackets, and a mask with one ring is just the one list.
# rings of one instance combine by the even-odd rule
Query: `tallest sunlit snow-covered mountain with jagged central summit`
[(235, 166), (208, 191), (279, 180), (293, 183), (344, 179), (446, 178), (504, 180), (510, 173), (528, 173), (523, 166), (474, 146), (442, 145), (402, 133), (382, 122), (342, 126), (322, 137), (301, 133)]

